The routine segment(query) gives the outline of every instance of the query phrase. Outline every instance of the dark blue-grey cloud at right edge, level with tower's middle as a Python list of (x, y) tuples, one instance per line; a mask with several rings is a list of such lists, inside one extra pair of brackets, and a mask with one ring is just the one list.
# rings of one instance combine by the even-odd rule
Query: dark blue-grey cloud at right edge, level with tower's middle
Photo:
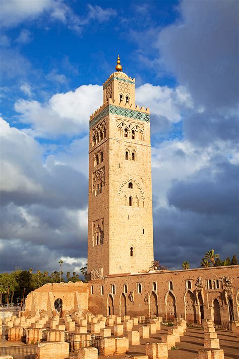
[(223, 162), (214, 167), (211, 164), (185, 181), (174, 181), (167, 194), (169, 205), (182, 211), (236, 216), (238, 173), (238, 165)]

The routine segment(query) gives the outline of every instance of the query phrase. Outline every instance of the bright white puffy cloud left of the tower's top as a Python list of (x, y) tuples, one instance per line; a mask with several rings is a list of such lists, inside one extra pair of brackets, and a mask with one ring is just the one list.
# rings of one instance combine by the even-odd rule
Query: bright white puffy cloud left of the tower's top
[(82, 85), (75, 91), (57, 93), (47, 104), (18, 100), (15, 110), (21, 121), (30, 124), (35, 136), (56, 137), (87, 131), (89, 116), (102, 104), (99, 85)]

